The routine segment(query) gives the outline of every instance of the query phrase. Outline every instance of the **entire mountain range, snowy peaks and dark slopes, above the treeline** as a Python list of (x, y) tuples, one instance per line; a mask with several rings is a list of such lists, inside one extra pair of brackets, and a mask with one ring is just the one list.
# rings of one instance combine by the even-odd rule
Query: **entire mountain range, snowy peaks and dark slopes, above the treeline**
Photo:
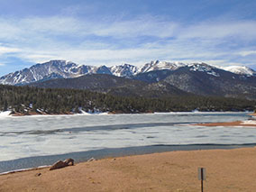
[(66, 60), (50, 60), (5, 75), (0, 78), (0, 84), (89, 89), (121, 96), (193, 94), (256, 98), (256, 72), (253, 69), (159, 60), (140, 68), (130, 64), (95, 67)]

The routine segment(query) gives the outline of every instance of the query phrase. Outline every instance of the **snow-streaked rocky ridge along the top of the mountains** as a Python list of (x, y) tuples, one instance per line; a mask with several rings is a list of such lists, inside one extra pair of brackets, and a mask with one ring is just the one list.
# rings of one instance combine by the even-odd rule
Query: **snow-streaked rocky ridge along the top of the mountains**
[[(155, 60), (136, 67), (124, 63), (123, 65), (115, 65), (112, 67), (106, 66), (87, 66), (78, 65), (72, 61), (67, 60), (50, 60), (41, 64), (35, 64), (29, 69), (22, 69), (9, 73), (0, 78), (0, 84), (3, 85), (24, 85), (36, 81), (44, 81), (51, 78), (78, 78), (87, 74), (109, 74), (117, 77), (131, 78), (139, 74), (156, 71), (169, 70), (174, 71), (180, 68), (193, 67), (194, 70), (201, 70), (210, 73), (207, 69), (216, 68), (206, 63), (181, 63), (181, 62), (167, 62)], [(217, 68), (230, 71), (234, 74), (239, 74), (247, 77), (256, 77), (256, 72), (248, 67), (229, 67)], [(212, 73), (212, 75), (215, 75)]]

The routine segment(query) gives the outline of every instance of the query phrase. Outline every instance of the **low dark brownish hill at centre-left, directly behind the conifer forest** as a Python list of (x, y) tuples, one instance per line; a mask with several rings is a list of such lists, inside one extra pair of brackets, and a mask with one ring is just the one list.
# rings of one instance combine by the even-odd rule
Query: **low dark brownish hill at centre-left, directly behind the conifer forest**
[(189, 96), (185, 91), (166, 83), (149, 84), (140, 80), (107, 74), (88, 74), (79, 78), (59, 78), (34, 82), (30, 87), (85, 89), (115, 96)]

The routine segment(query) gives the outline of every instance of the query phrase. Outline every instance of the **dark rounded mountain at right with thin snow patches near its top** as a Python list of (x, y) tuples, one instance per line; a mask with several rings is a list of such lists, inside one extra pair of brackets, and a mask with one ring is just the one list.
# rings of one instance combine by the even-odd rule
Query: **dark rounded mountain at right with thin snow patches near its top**
[(238, 75), (207, 65), (172, 71), (163, 82), (197, 95), (256, 98), (255, 76)]

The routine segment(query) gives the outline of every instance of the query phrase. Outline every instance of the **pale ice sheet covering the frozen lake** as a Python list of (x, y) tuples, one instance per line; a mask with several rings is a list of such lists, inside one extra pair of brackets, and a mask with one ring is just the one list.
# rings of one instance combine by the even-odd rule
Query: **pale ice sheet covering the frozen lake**
[(0, 161), (136, 146), (256, 143), (254, 128), (189, 125), (247, 119), (246, 113), (2, 117)]

